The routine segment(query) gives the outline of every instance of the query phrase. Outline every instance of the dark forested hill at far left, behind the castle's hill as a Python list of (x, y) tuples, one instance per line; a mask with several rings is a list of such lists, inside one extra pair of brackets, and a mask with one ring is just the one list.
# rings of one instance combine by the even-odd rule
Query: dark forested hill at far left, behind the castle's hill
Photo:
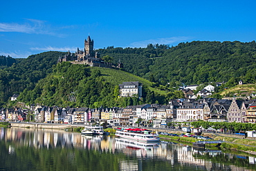
[(0, 106), (5, 104), (12, 94), (19, 94), (25, 89), (33, 90), (40, 79), (52, 72), (52, 67), (57, 64), (61, 54), (65, 53), (44, 52), (19, 60), (1, 56), (1, 65), (6, 67), (0, 68)]

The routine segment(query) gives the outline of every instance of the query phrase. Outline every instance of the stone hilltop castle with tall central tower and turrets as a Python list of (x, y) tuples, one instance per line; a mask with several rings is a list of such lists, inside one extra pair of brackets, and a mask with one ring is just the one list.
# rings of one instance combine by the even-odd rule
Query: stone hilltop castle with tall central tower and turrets
[[(84, 50), (79, 50), (75, 53), (71, 53), (68, 51), (68, 54), (59, 57), (59, 62), (70, 61), (73, 64), (86, 64), (89, 66), (97, 66), (97, 67), (104, 67), (104, 68), (122, 68), (122, 63), (118, 63), (118, 66), (111, 66), (111, 63), (104, 62), (103, 59), (100, 59), (100, 54), (93, 50), (93, 43), (94, 41), (91, 40), (89, 36), (87, 40), (84, 40)], [(121, 66), (121, 67), (120, 67)]]

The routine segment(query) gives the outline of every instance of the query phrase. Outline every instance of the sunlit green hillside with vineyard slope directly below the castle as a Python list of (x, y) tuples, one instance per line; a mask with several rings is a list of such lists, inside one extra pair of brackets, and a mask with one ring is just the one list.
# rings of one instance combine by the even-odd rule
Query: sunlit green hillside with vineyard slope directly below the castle
[[(143, 83), (143, 98), (119, 97), (118, 85), (124, 81)], [(58, 105), (72, 107), (125, 107), (143, 103), (167, 103), (170, 96), (177, 98), (183, 94), (172, 91), (156, 90), (152, 83), (121, 70), (110, 68), (91, 68), (73, 65), (69, 62), (58, 63), (53, 72), (41, 79), (33, 90), (25, 89), (18, 100), (27, 104)], [(157, 92), (162, 92), (158, 94)], [(168, 94), (168, 96), (166, 95)], [(181, 95), (181, 96), (180, 96)]]

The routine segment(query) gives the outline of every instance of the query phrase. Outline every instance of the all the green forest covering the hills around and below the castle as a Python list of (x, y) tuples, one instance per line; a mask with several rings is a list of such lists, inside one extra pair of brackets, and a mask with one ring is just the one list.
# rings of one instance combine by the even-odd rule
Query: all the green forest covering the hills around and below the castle
[[(101, 57), (109, 55), (112, 63), (121, 61), (124, 68), (113, 72), (70, 63), (57, 65), (58, 57), (65, 52), (43, 52), (27, 59), (0, 56), (0, 106), (15, 93), (25, 103), (44, 105), (111, 107), (167, 103), (168, 99), (182, 97), (176, 91), (182, 84), (225, 81), (223, 87), (232, 87), (240, 79), (244, 83), (256, 80), (255, 41), (192, 41), (175, 47), (149, 44), (147, 48), (109, 46), (97, 51)], [(126, 80), (125, 74), (141, 78), (132, 76)], [(142, 78), (148, 82), (143, 83), (145, 95), (141, 101), (135, 97), (117, 98), (116, 86), (121, 81), (143, 81)]]

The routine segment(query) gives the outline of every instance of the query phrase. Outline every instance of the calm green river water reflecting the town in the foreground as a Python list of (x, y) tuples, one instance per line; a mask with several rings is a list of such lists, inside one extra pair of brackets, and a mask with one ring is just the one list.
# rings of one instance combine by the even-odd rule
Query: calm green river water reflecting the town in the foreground
[(0, 128), (0, 170), (256, 170), (256, 157), (161, 141), (131, 145), (115, 136)]

